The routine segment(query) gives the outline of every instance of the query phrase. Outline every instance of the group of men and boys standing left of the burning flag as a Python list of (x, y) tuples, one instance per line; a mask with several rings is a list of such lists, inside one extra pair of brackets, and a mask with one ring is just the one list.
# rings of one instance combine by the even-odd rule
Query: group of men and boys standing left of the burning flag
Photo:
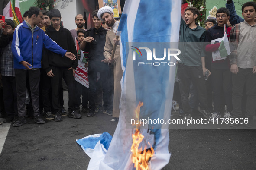
[[(80, 119), (80, 105), (87, 117), (93, 117), (102, 106), (103, 113), (113, 116), (111, 122), (118, 121), (123, 71), (118, 41), (111, 59), (119, 23), (113, 14), (110, 7), (94, 11), (94, 28), (89, 30), (84, 28), (81, 14), (75, 16), (77, 28), (69, 31), (63, 27), (58, 9), (48, 12), (34, 6), (24, 13), (24, 21), (16, 28), (10, 19), (1, 22), (1, 117), (6, 118), (3, 123), (22, 126), (26, 117), (33, 117), (37, 124), (42, 124), (42, 116), (56, 122), (62, 121), (62, 116)], [(74, 79), (82, 56), (75, 43), (81, 44), (89, 88)], [(63, 107), (62, 80), (68, 88), (68, 111)]]

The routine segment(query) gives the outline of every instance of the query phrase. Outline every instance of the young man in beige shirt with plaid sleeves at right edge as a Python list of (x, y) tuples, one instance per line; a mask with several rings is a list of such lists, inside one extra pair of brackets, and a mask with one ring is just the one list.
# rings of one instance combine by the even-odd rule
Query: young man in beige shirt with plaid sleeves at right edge
[[(246, 2), (242, 6), (243, 22), (236, 24), (230, 31), (229, 41), (237, 43), (237, 47), (230, 54), (232, 72), (232, 102), (234, 118), (243, 117), (241, 111), (243, 88), (246, 87), (246, 118), (248, 124), (245, 127), (253, 127), (253, 116), (256, 110), (256, 3)], [(233, 123), (231, 127), (239, 124)]]

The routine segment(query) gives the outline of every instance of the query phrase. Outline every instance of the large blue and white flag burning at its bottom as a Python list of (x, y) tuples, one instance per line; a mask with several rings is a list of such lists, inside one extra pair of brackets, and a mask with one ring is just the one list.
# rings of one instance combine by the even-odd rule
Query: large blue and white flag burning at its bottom
[[(134, 63), (133, 52), (136, 53), (136, 62), (146, 62), (147, 58), (152, 58), (154, 61), (175, 63), (178, 60), (178, 44), (162, 47), (161, 43), (178, 42), (178, 13), (181, 13), (179, 0), (161, 0), (157, 3), (151, 0), (126, 0), (117, 29), (124, 71), (120, 81), (122, 94), (119, 121), (113, 137), (102, 132), (77, 140), (91, 158), (89, 170), (161, 170), (169, 163), (169, 126), (149, 124), (143, 129), (130, 124), (130, 120), (136, 117), (170, 118), (176, 68), (163, 65), (138, 66)], [(137, 42), (152, 43), (152, 46), (139, 45)], [(154, 50), (151, 55), (146, 55), (146, 49), (139, 49), (140, 53), (136, 48), (137, 51), (132, 50), (132, 46), (138, 49), (156, 48), (158, 57), (154, 57)], [(165, 52), (158, 53), (158, 49), (164, 48)], [(140, 55), (145, 53), (145, 57), (137, 56), (137, 52)], [(162, 60), (163, 56), (165, 59)]]

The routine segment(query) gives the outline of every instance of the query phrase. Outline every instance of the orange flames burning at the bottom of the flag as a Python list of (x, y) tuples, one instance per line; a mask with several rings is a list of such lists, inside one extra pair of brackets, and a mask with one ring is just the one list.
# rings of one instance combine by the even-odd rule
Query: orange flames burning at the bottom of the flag
[[(143, 106), (143, 102), (139, 101), (139, 104), (135, 110), (136, 113), (136, 119), (139, 119), (139, 112), (140, 112), (140, 107)], [(132, 161), (134, 163), (134, 167), (136, 170), (148, 170), (148, 161), (150, 158), (154, 155), (154, 149), (150, 147), (150, 149), (142, 149), (139, 148), (139, 144), (143, 141), (144, 136), (139, 132), (139, 124), (136, 125), (135, 133), (132, 135), (133, 138), (133, 144), (131, 147), (131, 152), (132, 154)], [(148, 143), (149, 144), (149, 143)], [(149, 144), (150, 145), (150, 144)], [(146, 147), (146, 146), (145, 146)], [(143, 150), (143, 151), (139, 151)]]

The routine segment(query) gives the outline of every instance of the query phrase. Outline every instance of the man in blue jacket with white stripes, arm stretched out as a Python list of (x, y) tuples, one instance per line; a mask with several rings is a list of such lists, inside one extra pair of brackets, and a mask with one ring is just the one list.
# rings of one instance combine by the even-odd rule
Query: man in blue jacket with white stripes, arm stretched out
[(22, 126), (25, 119), (26, 76), (29, 76), (32, 105), (35, 122), (45, 123), (39, 113), (39, 80), (42, 59), (42, 48), (45, 47), (55, 53), (66, 56), (72, 60), (76, 57), (71, 52), (63, 50), (52, 41), (38, 25), (42, 20), (42, 11), (32, 6), (29, 8), (29, 18), (19, 24), (14, 31), (12, 52), (17, 88), (17, 107), (19, 119), (13, 126)]

